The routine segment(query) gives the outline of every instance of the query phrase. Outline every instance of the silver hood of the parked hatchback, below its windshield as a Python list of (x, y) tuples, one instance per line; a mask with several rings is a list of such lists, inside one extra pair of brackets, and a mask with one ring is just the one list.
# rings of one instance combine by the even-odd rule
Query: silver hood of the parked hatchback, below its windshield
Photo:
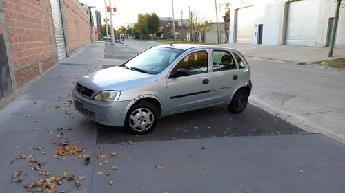
[(133, 71), (124, 67), (110, 67), (89, 73), (78, 80), (83, 87), (88, 87), (98, 93), (99, 91), (116, 90), (123, 91), (130, 88), (153, 82), (156, 75)]

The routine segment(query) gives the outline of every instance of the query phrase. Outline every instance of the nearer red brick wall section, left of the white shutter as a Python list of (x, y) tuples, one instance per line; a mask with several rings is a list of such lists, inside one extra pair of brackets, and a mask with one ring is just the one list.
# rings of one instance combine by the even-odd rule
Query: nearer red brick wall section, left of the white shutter
[(50, 1), (3, 0), (3, 8), (16, 89), (57, 63)]

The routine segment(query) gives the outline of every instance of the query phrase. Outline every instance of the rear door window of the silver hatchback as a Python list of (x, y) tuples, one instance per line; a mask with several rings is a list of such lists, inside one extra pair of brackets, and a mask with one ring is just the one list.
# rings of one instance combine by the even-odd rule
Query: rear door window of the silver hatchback
[(213, 71), (224, 71), (236, 69), (236, 63), (230, 52), (224, 50), (213, 50)]

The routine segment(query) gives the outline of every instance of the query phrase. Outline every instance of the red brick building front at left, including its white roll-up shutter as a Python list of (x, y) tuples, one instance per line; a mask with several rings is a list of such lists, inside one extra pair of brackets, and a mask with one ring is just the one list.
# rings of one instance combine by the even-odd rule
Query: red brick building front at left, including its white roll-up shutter
[(0, 108), (91, 37), (77, 0), (0, 0)]

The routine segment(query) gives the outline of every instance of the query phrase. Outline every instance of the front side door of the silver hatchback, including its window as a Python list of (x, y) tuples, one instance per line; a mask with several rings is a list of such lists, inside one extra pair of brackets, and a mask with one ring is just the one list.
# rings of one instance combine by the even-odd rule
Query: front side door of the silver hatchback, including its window
[[(210, 104), (208, 68), (206, 50), (188, 54), (173, 67), (167, 80), (167, 114), (199, 109)], [(189, 76), (176, 77), (177, 69), (188, 69)]]

